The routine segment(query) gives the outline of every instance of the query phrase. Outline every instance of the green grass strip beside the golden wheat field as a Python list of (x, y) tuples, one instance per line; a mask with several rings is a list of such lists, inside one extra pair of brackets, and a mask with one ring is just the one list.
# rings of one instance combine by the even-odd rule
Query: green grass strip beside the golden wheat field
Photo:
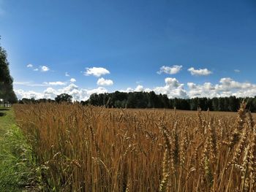
[(0, 108), (0, 191), (37, 191), (31, 147), (15, 125), (12, 109)]

